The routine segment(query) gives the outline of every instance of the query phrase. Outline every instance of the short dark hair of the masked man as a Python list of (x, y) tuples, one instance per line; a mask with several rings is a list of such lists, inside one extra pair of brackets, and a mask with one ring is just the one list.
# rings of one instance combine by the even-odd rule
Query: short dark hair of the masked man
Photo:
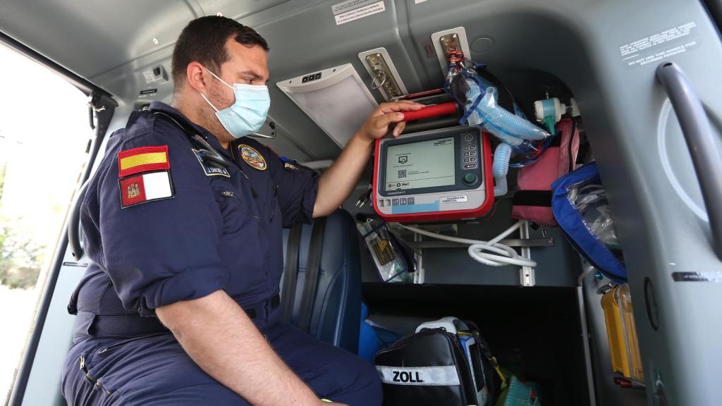
[(175, 87), (186, 78), (188, 64), (198, 61), (208, 69), (220, 74), (220, 66), (229, 58), (225, 48), (228, 38), (235, 38), (245, 46), (261, 46), (266, 51), (266, 40), (251, 27), (236, 20), (220, 16), (196, 18), (186, 25), (173, 48), (173, 81)]

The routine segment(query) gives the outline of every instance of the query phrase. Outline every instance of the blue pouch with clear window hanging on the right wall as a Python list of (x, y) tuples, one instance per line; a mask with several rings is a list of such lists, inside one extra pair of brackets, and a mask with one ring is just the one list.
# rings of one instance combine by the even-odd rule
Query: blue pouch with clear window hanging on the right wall
[(596, 163), (552, 183), (552, 212), (567, 240), (593, 267), (611, 280), (627, 281), (622, 249)]

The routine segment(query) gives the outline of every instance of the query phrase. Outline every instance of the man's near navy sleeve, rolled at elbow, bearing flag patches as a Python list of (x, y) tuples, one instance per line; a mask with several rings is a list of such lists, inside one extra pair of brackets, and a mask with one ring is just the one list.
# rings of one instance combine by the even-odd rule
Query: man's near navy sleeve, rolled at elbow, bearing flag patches
[[(168, 147), (171, 196), (164, 171), (153, 169), (159, 166), (129, 176), (127, 170), (119, 173), (123, 154), (133, 165), (146, 160), (136, 152), (163, 146)], [(224, 289), (229, 272), (218, 251), (222, 218), (191, 146), (177, 134), (162, 137), (149, 131), (123, 142), (114, 155), (106, 157), (111, 163), (97, 189), (98, 226), (103, 267), (123, 307), (152, 315), (160, 306)], [(162, 159), (158, 156), (148, 159)]]

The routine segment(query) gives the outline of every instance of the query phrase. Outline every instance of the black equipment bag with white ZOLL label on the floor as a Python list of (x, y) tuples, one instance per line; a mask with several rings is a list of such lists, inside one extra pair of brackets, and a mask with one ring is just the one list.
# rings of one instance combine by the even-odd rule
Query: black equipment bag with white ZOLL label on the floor
[(462, 326), (468, 329), (451, 317), (425, 323), (376, 354), (385, 406), (493, 404), (490, 392), (495, 391), (486, 381), (495, 371), (482, 363), (484, 351), (474, 347), (473, 335)]

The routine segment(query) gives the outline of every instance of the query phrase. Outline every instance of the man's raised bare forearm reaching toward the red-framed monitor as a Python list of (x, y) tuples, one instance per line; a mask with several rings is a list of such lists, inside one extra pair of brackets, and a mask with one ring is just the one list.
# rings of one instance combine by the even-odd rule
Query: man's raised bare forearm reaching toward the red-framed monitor
[(348, 199), (366, 168), (373, 140), (358, 134), (349, 140), (331, 168), (318, 179), (318, 195), (313, 217), (330, 215)]

